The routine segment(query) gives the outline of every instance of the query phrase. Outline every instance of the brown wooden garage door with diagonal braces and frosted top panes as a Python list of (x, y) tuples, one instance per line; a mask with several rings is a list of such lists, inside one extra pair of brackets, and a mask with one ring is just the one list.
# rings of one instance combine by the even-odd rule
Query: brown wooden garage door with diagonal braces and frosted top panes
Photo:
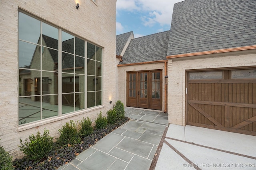
[(256, 136), (256, 68), (187, 73), (187, 125)]

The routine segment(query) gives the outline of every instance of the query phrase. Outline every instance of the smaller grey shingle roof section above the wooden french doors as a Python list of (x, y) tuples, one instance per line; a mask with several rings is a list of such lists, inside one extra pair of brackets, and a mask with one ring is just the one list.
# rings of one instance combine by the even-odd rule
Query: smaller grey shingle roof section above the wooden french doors
[(119, 64), (165, 60), (169, 33), (164, 31), (132, 39)]

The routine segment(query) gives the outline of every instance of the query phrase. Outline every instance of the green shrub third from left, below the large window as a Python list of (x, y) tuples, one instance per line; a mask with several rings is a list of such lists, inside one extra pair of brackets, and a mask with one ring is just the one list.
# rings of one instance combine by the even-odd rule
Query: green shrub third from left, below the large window
[[(77, 121), (78, 122), (78, 121)], [(70, 120), (70, 123), (66, 123), (62, 126), (61, 129), (58, 129), (60, 132), (60, 137), (57, 139), (57, 143), (60, 145), (75, 145), (81, 143), (81, 138), (79, 136), (79, 131), (77, 130), (77, 122)]]

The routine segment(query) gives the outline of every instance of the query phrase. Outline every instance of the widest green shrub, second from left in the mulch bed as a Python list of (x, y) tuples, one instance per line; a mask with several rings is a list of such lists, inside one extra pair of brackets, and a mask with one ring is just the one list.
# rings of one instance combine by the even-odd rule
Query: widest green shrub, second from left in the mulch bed
[(49, 131), (46, 129), (44, 129), (43, 136), (40, 135), (40, 132), (38, 131), (36, 136), (32, 134), (28, 139), (30, 142), (25, 140), (24, 144), (20, 139), (21, 146), (18, 145), (18, 147), (20, 147), (20, 150), (31, 160), (40, 160), (44, 158), (53, 148), (53, 138), (50, 137)]

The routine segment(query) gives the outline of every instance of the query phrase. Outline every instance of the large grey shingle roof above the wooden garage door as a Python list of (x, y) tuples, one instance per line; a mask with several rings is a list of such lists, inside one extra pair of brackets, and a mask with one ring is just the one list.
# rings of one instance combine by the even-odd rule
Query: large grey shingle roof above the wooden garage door
[(255, 0), (174, 4), (167, 55), (256, 45)]

